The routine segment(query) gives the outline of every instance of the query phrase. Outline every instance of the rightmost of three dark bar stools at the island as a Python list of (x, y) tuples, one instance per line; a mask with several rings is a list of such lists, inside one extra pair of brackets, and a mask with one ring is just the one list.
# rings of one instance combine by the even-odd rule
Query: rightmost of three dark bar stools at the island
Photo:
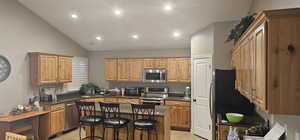
[(131, 104), (133, 116), (133, 140), (135, 130), (140, 130), (140, 139), (143, 139), (143, 131), (147, 131), (148, 140), (150, 140), (150, 132), (155, 131), (156, 139), (158, 134), (156, 132), (157, 121), (154, 120), (155, 105), (154, 104)]

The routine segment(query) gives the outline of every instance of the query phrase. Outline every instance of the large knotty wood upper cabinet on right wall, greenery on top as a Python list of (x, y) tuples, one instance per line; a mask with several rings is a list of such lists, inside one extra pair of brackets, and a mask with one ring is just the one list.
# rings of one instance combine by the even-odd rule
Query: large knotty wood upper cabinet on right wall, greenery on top
[(300, 115), (300, 9), (261, 13), (237, 42), (236, 89), (270, 114)]

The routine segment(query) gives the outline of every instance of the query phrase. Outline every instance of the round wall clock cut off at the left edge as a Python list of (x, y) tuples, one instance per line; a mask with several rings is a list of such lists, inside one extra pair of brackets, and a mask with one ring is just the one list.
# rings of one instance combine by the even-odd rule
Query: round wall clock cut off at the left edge
[(11, 66), (9, 61), (0, 55), (0, 83), (6, 80), (10, 74)]

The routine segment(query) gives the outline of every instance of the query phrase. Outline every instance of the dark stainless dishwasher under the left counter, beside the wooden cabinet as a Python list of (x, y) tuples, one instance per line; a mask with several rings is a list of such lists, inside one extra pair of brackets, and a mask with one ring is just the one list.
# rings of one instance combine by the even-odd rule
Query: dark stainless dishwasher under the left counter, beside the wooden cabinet
[(75, 102), (67, 102), (65, 107), (65, 131), (79, 126), (79, 115)]

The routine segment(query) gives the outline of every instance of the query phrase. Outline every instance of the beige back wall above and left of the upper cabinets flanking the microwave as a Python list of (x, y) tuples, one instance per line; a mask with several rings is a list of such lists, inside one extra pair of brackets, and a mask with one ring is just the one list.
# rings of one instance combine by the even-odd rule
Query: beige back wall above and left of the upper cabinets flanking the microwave
[[(161, 49), (161, 50), (136, 50), (136, 51), (96, 51), (89, 52), (89, 80), (101, 87), (109, 87), (105, 80), (105, 58), (128, 58), (128, 57), (169, 57), (190, 56), (190, 49)], [(138, 83), (114, 83), (112, 86), (143, 86)]]

